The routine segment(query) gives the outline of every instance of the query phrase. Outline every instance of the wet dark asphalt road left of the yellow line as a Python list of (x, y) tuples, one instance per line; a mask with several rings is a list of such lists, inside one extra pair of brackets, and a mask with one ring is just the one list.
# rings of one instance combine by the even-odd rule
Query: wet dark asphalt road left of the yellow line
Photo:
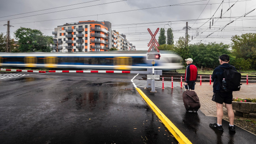
[(133, 76), (33, 73), (0, 79), (0, 143), (177, 143), (134, 88)]

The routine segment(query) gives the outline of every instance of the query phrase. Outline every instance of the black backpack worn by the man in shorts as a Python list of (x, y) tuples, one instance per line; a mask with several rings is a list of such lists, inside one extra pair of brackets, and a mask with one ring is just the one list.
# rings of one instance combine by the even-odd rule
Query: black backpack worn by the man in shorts
[(223, 78), (225, 78), (225, 80), (226, 80), (226, 86), (221, 81), (221, 88), (224, 91), (240, 91), (240, 88), (241, 88), (240, 85), (242, 85), (242, 84), (240, 84), (241, 73), (237, 72), (232, 67), (229, 67), (229, 68), (220, 67), (220, 68), (224, 70)]

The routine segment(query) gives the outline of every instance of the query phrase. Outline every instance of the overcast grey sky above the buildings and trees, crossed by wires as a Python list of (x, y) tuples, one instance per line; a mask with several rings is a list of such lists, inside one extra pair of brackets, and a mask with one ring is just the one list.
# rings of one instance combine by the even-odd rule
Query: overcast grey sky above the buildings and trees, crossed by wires
[(233, 35), (256, 32), (255, 8), (256, 0), (1, 0), (0, 33), (6, 34), (8, 20), (14, 26), (11, 38), (19, 27), (52, 36), (54, 28), (65, 23), (105, 20), (137, 50), (148, 50), (148, 28), (153, 34), (157, 28), (165, 28), (165, 34), (172, 28), (177, 41), (185, 37), (188, 22), (190, 43), (230, 44)]

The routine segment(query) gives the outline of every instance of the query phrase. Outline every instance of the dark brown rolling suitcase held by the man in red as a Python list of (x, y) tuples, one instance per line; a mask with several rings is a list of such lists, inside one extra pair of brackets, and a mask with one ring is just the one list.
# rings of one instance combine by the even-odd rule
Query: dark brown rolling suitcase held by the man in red
[[(184, 84), (185, 88), (185, 84)], [(188, 87), (189, 90), (189, 87)], [(187, 111), (196, 111), (201, 107), (199, 98), (195, 91), (185, 91), (182, 94), (183, 103)]]

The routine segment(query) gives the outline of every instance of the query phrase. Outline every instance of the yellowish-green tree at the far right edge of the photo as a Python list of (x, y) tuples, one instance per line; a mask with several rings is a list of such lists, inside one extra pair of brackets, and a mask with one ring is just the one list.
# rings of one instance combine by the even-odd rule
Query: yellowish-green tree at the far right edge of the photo
[(246, 33), (231, 38), (231, 48), (236, 58), (250, 59), (251, 66), (256, 69), (256, 33)]

